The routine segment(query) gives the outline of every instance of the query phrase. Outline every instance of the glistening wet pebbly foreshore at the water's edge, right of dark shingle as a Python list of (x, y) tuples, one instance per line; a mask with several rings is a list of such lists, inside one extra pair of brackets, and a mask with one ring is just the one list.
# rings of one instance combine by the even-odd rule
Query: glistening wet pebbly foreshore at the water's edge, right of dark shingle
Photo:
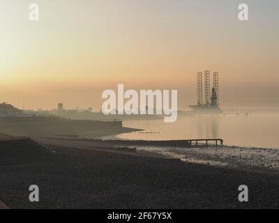
[(279, 150), (273, 148), (246, 148), (241, 146), (193, 146), (175, 148), (140, 146), (140, 151), (152, 151), (183, 162), (206, 164), (217, 167), (251, 169), (279, 174)]

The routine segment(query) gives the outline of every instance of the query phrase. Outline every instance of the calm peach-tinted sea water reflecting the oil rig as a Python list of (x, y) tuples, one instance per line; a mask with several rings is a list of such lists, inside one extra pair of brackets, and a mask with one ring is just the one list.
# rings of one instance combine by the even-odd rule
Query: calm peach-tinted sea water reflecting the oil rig
[(122, 139), (222, 138), (227, 145), (279, 148), (279, 114), (183, 116), (176, 123), (125, 121), (123, 126), (144, 131), (121, 134)]

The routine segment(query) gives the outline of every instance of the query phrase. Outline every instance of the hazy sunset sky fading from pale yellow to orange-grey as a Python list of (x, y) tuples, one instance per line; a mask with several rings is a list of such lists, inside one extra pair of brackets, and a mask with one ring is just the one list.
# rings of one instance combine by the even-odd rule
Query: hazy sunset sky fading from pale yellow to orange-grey
[(100, 110), (102, 92), (124, 84), (177, 89), (186, 109), (197, 72), (211, 70), (224, 107), (279, 106), (278, 12), (278, 0), (1, 0), (0, 102)]

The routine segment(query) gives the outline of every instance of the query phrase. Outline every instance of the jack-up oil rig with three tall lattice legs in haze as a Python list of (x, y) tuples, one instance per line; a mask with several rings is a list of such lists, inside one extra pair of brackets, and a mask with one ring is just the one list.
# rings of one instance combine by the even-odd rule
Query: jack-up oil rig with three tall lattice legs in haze
[[(204, 82), (202, 72), (197, 73), (197, 105), (190, 105), (193, 112), (197, 114), (222, 114), (219, 108), (219, 73), (213, 72), (213, 89), (211, 90), (210, 71), (204, 71)], [(203, 92), (204, 83), (204, 92)], [(210, 92), (211, 90), (211, 92)]]

